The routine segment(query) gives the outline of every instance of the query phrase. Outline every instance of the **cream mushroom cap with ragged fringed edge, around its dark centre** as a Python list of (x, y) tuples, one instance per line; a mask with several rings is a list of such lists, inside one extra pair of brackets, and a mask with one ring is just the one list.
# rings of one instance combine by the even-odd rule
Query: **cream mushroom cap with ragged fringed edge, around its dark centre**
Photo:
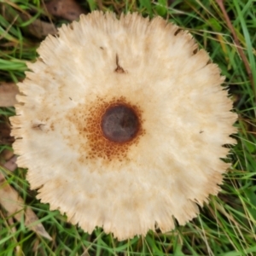
[[(185, 224), (218, 194), (236, 114), (189, 32), (160, 17), (95, 11), (48, 36), (38, 54), (18, 84), (12, 134), (18, 165), (50, 209), (124, 240), (172, 230), (175, 218)], [(102, 120), (120, 106), (137, 126), (113, 141)]]

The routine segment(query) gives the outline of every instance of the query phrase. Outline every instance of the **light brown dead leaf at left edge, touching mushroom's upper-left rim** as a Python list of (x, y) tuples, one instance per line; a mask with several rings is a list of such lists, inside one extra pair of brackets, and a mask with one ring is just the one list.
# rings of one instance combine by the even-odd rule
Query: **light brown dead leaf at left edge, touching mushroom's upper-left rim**
[(14, 106), (17, 101), (15, 96), (19, 93), (14, 83), (0, 83), (0, 107)]

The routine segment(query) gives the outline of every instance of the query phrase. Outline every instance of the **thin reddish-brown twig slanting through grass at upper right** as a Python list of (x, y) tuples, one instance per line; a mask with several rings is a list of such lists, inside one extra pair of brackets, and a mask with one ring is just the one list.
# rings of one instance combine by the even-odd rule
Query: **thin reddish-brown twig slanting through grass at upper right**
[(231, 33), (233, 35), (233, 38), (234, 38), (234, 41), (235, 41), (235, 44), (236, 44), (236, 49), (238, 50), (238, 53), (241, 56), (241, 60), (243, 61), (244, 66), (245, 66), (245, 68), (247, 70), (247, 74), (248, 74), (248, 77), (250, 79), (250, 82), (251, 82), (251, 85), (252, 85), (252, 88), (253, 88), (254, 96), (256, 96), (256, 91), (255, 91), (254, 82), (253, 82), (253, 73), (252, 73), (251, 67), (249, 65), (249, 62), (247, 60), (247, 57), (246, 57), (246, 55), (244, 54), (244, 52), (242, 50), (241, 44), (239, 42), (239, 39), (237, 38), (234, 26), (232, 25), (232, 23), (230, 21), (230, 17), (227, 14), (227, 11), (226, 11), (226, 9), (224, 7), (224, 0), (216, 0), (216, 3), (218, 3), (219, 8), (221, 9), (221, 11), (222, 11), (222, 13), (224, 15), (224, 19), (227, 22), (227, 26), (229, 27), (229, 29), (230, 29), (230, 31), (231, 31)]

